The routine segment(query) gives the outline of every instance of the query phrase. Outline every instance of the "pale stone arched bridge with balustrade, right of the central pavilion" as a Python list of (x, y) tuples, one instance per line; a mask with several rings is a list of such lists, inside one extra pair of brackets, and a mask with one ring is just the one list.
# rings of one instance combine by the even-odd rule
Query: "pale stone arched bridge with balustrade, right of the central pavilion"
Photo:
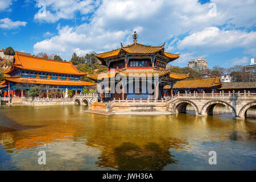
[(191, 104), (196, 115), (212, 115), (217, 104), (227, 106), (232, 111), (233, 118), (245, 118), (246, 111), (256, 105), (255, 93), (193, 93), (177, 94), (167, 100), (167, 109), (172, 113), (183, 113)]

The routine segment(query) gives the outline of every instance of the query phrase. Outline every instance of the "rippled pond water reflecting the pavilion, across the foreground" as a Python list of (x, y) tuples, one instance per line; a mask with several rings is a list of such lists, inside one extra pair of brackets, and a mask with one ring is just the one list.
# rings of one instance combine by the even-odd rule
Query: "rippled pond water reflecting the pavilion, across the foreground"
[[(106, 116), (84, 109), (2, 106), (0, 170), (256, 169), (253, 119)], [(38, 164), (42, 150), (46, 165)], [(217, 152), (217, 165), (208, 163), (212, 150)]]

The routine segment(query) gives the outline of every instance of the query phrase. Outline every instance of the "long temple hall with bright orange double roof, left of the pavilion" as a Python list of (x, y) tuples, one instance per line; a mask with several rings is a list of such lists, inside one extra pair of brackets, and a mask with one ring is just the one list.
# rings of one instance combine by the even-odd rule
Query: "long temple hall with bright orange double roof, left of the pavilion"
[(17, 84), (43, 85), (48, 90), (55, 88), (59, 90), (73, 90), (73, 94), (80, 93), (84, 86), (94, 85), (90, 82), (80, 81), (81, 76), (86, 75), (78, 71), (71, 61), (49, 60), (30, 53), (15, 52), (13, 64), (10, 70), (4, 71), (0, 87), (3, 97), (23, 96), (23, 90), (16, 88)]

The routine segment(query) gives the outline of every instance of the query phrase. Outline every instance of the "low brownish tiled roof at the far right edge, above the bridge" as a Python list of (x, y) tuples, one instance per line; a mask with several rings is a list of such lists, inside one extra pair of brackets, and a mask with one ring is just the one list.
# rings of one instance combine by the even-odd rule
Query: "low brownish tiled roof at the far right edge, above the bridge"
[(220, 89), (255, 89), (256, 81), (234, 81), (222, 83)]

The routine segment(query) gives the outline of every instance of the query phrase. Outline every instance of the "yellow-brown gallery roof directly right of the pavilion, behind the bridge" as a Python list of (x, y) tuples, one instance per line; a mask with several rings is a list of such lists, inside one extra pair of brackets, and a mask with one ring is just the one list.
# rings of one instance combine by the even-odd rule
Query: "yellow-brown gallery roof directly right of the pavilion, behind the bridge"
[(174, 89), (181, 88), (211, 88), (213, 86), (221, 85), (219, 77), (208, 77), (208, 78), (191, 78), (181, 81), (177, 81), (174, 85)]

